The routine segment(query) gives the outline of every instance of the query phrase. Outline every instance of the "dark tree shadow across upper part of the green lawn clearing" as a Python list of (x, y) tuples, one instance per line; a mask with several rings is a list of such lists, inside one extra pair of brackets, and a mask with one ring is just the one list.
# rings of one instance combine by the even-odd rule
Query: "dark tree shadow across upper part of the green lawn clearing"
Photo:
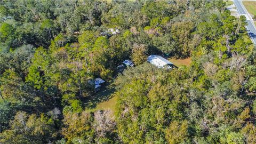
[(113, 97), (115, 92), (114, 85), (106, 84), (101, 87), (101, 90), (89, 97), (85, 97), (83, 100), (85, 109), (94, 109), (100, 102), (107, 101)]

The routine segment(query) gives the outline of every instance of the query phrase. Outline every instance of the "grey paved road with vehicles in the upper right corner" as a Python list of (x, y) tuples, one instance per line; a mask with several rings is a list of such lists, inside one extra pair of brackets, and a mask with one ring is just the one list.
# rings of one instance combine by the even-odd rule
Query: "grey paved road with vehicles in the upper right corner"
[(234, 0), (234, 4), (236, 6), (238, 15), (245, 15), (247, 19), (246, 22), (248, 23), (248, 25), (245, 27), (248, 30), (248, 33), (252, 39), (252, 42), (254, 43), (254, 45), (256, 45), (256, 27), (254, 26), (251, 15), (245, 9), (242, 1)]

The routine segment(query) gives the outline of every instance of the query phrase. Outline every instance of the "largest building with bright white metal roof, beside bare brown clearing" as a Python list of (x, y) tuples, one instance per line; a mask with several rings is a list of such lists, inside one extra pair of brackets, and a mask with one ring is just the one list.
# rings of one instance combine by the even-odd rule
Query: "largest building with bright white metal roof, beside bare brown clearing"
[(166, 67), (167, 69), (172, 68), (174, 65), (169, 60), (166, 60), (165, 58), (159, 56), (159, 55), (149, 55), (147, 58), (147, 61), (153, 65), (155, 65), (158, 68)]

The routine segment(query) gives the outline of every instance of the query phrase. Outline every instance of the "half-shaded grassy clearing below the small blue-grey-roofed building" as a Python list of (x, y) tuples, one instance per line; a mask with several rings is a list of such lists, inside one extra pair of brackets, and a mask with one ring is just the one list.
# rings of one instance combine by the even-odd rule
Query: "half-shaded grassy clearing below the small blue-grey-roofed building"
[(114, 97), (113, 95), (114, 92), (115, 87), (113, 84), (102, 86), (99, 92), (83, 100), (85, 110), (90, 112), (95, 110), (110, 109), (114, 112), (117, 100), (117, 97)]

